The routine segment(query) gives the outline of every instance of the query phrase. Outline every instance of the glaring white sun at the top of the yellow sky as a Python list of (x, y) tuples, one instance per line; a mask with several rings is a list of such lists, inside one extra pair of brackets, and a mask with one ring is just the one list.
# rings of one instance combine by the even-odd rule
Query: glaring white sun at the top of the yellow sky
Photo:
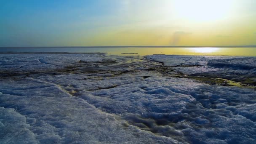
[(173, 13), (194, 22), (218, 21), (232, 13), (234, 0), (175, 0)]

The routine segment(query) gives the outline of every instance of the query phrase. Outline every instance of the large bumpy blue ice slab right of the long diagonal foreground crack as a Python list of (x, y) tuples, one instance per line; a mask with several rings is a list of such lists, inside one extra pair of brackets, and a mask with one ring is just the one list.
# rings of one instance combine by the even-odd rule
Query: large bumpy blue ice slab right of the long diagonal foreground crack
[(254, 90), (149, 77), (143, 82), (77, 95), (138, 128), (182, 142), (256, 141)]

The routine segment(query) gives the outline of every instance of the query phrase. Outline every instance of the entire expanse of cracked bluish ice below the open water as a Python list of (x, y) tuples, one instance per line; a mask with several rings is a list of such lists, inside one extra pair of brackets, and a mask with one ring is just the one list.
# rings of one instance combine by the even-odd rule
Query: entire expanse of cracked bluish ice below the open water
[(254, 57), (3, 54), (0, 143), (254, 144), (255, 64)]

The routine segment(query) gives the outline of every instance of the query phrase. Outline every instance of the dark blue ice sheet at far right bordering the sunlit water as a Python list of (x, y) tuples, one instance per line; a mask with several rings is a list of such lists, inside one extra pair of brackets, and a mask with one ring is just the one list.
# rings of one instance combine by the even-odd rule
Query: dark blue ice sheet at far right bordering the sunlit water
[[(199, 77), (224, 78), (256, 85), (256, 57), (244, 56), (146, 56), (159, 61), (173, 72)], [(175, 66), (175, 67), (174, 67)]]

